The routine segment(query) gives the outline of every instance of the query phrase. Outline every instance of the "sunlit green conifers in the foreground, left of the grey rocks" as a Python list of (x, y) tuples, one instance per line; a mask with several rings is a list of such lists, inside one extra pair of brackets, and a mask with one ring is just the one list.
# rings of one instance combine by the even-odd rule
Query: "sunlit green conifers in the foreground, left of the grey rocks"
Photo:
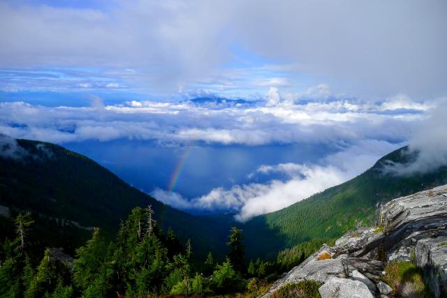
[[(1, 297), (156, 297), (156, 295), (235, 294), (256, 297), (281, 269), (297, 265), (321, 243), (287, 251), (277, 262), (247, 264), (242, 230), (231, 228), (226, 259), (208, 253), (194, 262), (193, 244), (182, 244), (172, 229), (159, 228), (152, 207), (136, 207), (119, 225), (114, 241), (99, 228), (71, 258), (60, 248), (45, 248), (32, 237), (31, 214), (18, 214), (15, 234), (0, 251)], [(224, 246), (224, 245), (223, 245)], [(224, 246), (225, 247), (225, 246)], [(292, 258), (292, 259), (287, 259)], [(248, 279), (247, 279), (248, 278)]]

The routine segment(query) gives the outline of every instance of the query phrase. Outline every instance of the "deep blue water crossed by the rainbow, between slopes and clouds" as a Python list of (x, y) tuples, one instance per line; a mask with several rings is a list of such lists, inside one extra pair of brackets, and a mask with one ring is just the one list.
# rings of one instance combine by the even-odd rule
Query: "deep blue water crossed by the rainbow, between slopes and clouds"
[(177, 169), (178, 177), (172, 191), (186, 198), (205, 195), (218, 187), (283, 179), (285, 177), (280, 174), (251, 178), (249, 174), (261, 165), (317, 163), (335, 151), (324, 144), (169, 146), (140, 140), (77, 142), (64, 144), (64, 147), (88, 156), (145, 192), (156, 187), (168, 190)]

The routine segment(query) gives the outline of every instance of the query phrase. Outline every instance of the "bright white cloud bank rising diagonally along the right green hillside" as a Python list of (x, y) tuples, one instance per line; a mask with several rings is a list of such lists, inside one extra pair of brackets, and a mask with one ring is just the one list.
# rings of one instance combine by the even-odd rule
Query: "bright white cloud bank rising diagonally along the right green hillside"
[(235, 185), (230, 189), (214, 188), (207, 195), (192, 200), (159, 188), (156, 188), (152, 195), (180, 209), (230, 209), (237, 212), (235, 218), (238, 221), (247, 221), (253, 216), (288, 207), (314, 193), (356, 177), (374, 165), (381, 156), (397, 149), (400, 145), (364, 140), (326, 156), (321, 161), (321, 165), (295, 163), (261, 165), (250, 174), (251, 177), (256, 173), (284, 172), (289, 178), (286, 181), (273, 179), (266, 184)]

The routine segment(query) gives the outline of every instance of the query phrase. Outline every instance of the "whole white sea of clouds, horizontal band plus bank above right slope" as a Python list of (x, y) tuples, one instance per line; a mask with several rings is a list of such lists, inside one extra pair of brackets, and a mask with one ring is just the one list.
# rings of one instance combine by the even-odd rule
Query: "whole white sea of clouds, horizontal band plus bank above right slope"
[[(198, 198), (183, 198), (162, 188), (152, 191), (173, 207), (235, 211), (240, 221), (351, 179), (404, 144), (420, 151), (420, 157), (415, 165), (393, 165), (391, 170), (398, 174), (447, 163), (444, 99), (417, 102), (397, 94), (372, 101), (331, 96), (325, 85), (316, 90), (320, 91), (297, 96), (271, 88), (264, 98), (253, 101), (210, 97), (104, 105), (94, 97), (89, 107), (0, 103), (0, 133), (58, 144), (126, 139), (151, 140), (159, 147), (219, 144), (256, 150), (266, 144), (330, 144), (337, 148), (317, 163), (261, 165), (247, 173), (253, 182), (214, 188)], [(261, 184), (256, 177), (271, 179)]]

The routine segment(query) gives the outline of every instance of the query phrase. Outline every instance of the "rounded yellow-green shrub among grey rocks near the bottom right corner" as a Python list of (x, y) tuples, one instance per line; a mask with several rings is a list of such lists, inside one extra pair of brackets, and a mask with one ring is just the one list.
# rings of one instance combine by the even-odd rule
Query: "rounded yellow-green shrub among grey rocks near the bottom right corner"
[(413, 262), (390, 262), (385, 267), (383, 281), (402, 297), (432, 297), (425, 285), (423, 271)]

